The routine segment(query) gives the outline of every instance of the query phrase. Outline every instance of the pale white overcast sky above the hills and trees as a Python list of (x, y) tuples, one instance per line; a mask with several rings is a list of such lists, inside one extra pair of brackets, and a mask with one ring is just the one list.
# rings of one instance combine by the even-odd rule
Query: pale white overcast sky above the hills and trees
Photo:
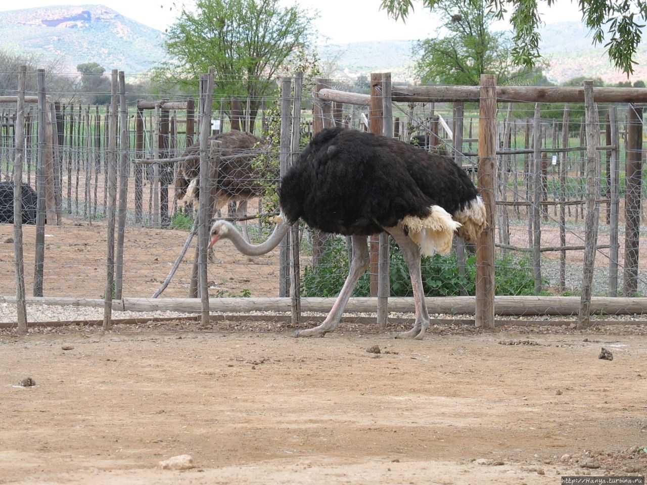
[[(181, 5), (183, 0), (177, 0)], [(193, 1), (184, 1), (185, 5), (194, 5)], [(320, 18), (315, 22), (321, 36), (321, 43), (345, 43), (362, 40), (417, 40), (428, 38), (437, 27), (437, 20), (422, 8), (419, 1), (414, 1), (415, 14), (410, 15), (406, 23), (395, 22), (380, 10), (380, 0), (280, 0), (281, 5), (297, 3), (303, 9), (318, 10)], [(149, 27), (164, 30), (171, 25), (178, 10), (173, 0), (21, 0), (13, 3), (0, 2), (0, 10), (32, 8), (35, 6), (54, 5), (105, 5), (126, 17), (130, 17)], [(19, 7), (18, 7), (19, 5)], [(577, 3), (570, 0), (558, 0), (556, 5), (546, 8), (543, 14), (546, 23), (579, 21), (582, 16)], [(503, 28), (503, 27), (501, 27)]]

